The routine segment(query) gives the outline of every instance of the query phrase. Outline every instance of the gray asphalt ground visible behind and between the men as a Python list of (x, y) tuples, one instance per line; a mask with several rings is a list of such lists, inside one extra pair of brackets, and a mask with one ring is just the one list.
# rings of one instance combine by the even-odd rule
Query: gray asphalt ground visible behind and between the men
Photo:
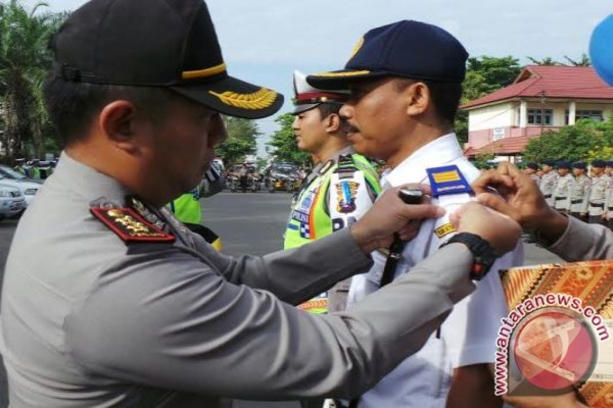
[[(228, 254), (266, 254), (281, 248), (290, 196), (286, 193), (221, 193), (203, 201), (205, 224), (221, 236)], [(0, 223), (0, 283), (4, 262), (17, 221)], [(32, 252), (36, 248), (32, 248)], [(557, 262), (559, 259), (535, 245), (526, 246), (527, 264)], [(0, 408), (6, 408), (6, 380), (0, 361)], [(239, 401), (235, 408), (296, 408), (293, 402)]]

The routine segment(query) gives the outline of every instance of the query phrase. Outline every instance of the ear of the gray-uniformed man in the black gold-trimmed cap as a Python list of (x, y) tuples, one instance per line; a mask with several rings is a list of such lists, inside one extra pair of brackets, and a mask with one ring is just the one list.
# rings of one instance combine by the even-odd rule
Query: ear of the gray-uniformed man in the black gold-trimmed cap
[(136, 107), (127, 100), (115, 100), (102, 108), (98, 125), (115, 147), (134, 153), (137, 150), (135, 127)]

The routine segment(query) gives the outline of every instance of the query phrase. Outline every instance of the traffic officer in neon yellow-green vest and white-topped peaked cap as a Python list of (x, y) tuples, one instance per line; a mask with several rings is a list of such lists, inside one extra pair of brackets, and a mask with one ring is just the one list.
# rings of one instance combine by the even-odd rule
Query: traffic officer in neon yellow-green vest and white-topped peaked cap
[[(295, 248), (354, 223), (378, 195), (375, 168), (356, 154), (347, 140), (338, 111), (348, 91), (316, 89), (305, 75), (294, 72), (295, 138), (308, 152), (313, 171), (294, 196), (285, 231), (284, 248)], [(329, 293), (300, 305), (314, 313), (345, 310), (349, 281), (337, 283)]]

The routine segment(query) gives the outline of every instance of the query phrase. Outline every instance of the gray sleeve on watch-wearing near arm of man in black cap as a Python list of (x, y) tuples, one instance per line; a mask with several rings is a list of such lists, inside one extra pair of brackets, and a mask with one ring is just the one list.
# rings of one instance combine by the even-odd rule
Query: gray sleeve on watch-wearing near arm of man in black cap
[(320, 316), (176, 248), (134, 253), (74, 306), (67, 348), (85, 376), (228, 398), (349, 398), (422, 347), (473, 290), (471, 262), (449, 245), (351, 311)]

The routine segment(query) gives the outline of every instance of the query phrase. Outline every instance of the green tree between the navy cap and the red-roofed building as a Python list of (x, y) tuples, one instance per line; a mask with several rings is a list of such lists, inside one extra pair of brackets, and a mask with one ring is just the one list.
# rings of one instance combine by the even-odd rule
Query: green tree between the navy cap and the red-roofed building
[[(462, 83), (460, 104), (463, 105), (512, 84), (521, 71), (519, 59), (512, 56), (469, 58), (466, 63), (466, 78)], [(454, 129), (461, 142), (468, 140), (467, 112), (458, 113)]]

